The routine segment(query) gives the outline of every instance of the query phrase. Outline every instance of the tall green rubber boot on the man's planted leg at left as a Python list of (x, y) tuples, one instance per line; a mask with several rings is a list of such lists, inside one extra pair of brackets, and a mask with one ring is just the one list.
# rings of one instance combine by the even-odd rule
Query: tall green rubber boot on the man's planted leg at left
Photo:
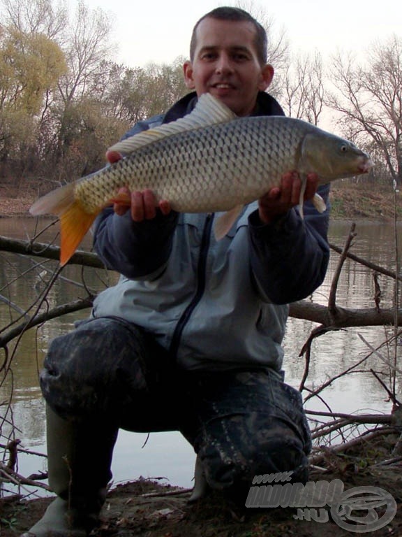
[(105, 434), (105, 423), (62, 420), (48, 406), (46, 416), (49, 485), (57, 498), (21, 537), (85, 537), (99, 522), (118, 429)]

